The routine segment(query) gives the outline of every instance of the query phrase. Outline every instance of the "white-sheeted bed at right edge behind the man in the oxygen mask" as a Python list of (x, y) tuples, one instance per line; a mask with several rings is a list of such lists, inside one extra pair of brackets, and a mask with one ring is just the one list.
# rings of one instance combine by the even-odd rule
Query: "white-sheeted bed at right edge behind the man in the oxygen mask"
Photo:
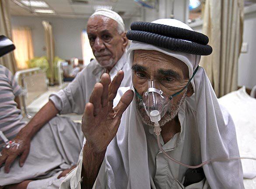
[[(243, 86), (237, 91), (222, 96), (218, 101), (231, 114), (235, 123), (235, 130), (239, 153), (242, 157), (256, 157), (256, 86), (251, 96)], [(256, 161), (241, 160), (244, 172), (245, 189), (256, 189)], [(251, 179), (245, 179), (251, 178)], [(253, 178), (254, 177), (254, 178)]]

